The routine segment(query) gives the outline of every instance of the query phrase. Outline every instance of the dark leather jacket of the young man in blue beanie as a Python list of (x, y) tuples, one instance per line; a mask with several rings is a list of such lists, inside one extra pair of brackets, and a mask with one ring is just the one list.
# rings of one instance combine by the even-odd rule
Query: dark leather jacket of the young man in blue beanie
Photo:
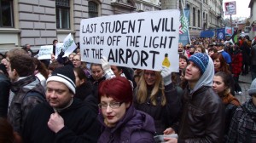
[(224, 104), (212, 87), (201, 87), (183, 96), (183, 114), (178, 142), (222, 142), (224, 137)]

